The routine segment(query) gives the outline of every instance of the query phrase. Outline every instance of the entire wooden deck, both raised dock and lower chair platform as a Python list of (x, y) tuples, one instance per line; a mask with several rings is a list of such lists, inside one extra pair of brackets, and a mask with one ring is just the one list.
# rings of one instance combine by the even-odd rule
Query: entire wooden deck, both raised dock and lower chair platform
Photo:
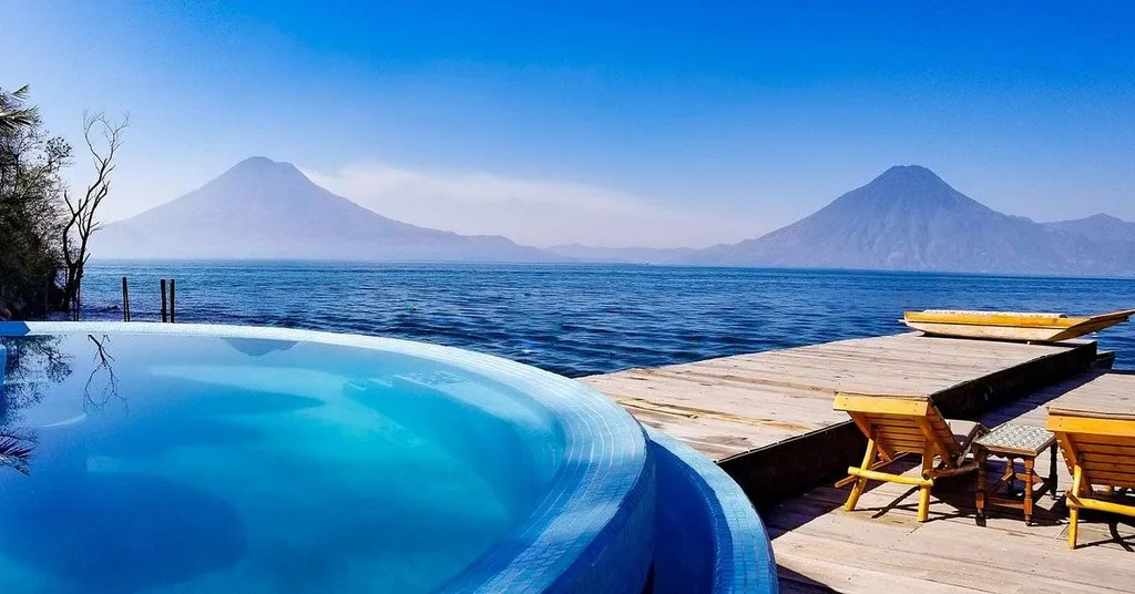
[[(1094, 342), (902, 334), (583, 382), (716, 460), (746, 490), (763, 510), (783, 592), (1133, 592), (1135, 520), (1085, 511), (1082, 546), (1067, 549), (1062, 494), (1071, 479), (1062, 461), (1061, 499), (1039, 501), (1031, 527), (1019, 511), (998, 509), (978, 527), (974, 475), (940, 479), (923, 524), (911, 487), (871, 484), (857, 510), (844, 512), (848, 491), (831, 486), (866, 443), (832, 409), (838, 393), (925, 394), (949, 417), (1043, 426), (1044, 407), (1073, 388), (1081, 396), (1096, 390), (1103, 400), (1127, 392), (1126, 377), (1088, 384), (1099, 359)], [(1046, 453), (1036, 467), (1048, 472)]]

